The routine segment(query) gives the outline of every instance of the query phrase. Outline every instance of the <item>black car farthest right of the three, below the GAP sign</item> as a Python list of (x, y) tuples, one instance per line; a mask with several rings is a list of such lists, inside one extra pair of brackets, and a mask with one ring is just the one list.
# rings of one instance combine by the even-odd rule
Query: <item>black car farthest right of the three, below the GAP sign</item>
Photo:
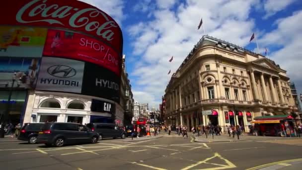
[(103, 138), (124, 139), (126, 137), (126, 132), (113, 123), (88, 123), (86, 126), (100, 135), (99, 140)]

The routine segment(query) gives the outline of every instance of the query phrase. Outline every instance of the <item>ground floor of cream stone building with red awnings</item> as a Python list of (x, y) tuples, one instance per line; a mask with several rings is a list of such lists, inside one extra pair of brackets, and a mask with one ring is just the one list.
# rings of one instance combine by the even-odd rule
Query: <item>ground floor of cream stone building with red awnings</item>
[[(204, 114), (203, 114), (204, 113)], [(237, 114), (236, 114), (237, 113)], [(208, 115), (205, 115), (208, 114)], [(178, 113), (168, 116), (165, 124), (179, 126), (184, 125), (188, 128), (199, 125), (214, 126), (220, 125), (223, 131), (227, 131), (227, 126), (240, 125), (245, 132), (249, 132), (249, 126), (256, 116), (264, 115), (287, 115), (286, 110), (259, 107), (242, 107), (242, 106), (209, 106), (196, 108), (191, 111), (180, 110)]]

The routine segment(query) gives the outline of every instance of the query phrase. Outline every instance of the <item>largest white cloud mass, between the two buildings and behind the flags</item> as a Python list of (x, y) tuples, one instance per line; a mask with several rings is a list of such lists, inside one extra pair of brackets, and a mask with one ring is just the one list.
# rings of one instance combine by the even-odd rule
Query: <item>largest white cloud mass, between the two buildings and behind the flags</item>
[[(134, 38), (134, 55), (142, 56), (131, 77), (138, 80), (133, 88), (139, 102), (159, 103), (173, 72), (203, 35), (197, 30), (200, 17), (209, 35), (240, 46), (249, 42), (254, 21), (248, 19), (259, 0), (186, 0), (168, 3), (152, 12), (152, 20), (128, 28)], [(167, 4), (163, 4), (167, 3)], [(177, 9), (170, 9), (177, 4)], [(172, 63), (168, 60), (174, 56)], [(139, 66), (137, 66), (137, 64)], [(171, 69), (171, 74), (167, 75)]]

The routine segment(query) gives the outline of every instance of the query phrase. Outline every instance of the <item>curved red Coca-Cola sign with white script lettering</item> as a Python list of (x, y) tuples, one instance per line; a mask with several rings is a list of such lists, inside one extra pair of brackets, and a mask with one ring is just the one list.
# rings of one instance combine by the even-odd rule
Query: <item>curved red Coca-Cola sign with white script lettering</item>
[[(72, 1), (72, 2), (71, 2)], [(102, 10), (77, 0), (7, 0), (0, 24), (68, 28), (85, 32), (122, 54), (119, 25)]]

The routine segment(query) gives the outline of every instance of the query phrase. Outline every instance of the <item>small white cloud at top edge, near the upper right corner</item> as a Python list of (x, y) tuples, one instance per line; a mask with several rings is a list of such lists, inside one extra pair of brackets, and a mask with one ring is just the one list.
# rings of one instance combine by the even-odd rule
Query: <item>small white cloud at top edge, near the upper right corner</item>
[(285, 9), (294, 1), (295, 0), (266, 0), (264, 3), (264, 10), (266, 11), (266, 14), (263, 16), (263, 19), (267, 19), (275, 13)]

